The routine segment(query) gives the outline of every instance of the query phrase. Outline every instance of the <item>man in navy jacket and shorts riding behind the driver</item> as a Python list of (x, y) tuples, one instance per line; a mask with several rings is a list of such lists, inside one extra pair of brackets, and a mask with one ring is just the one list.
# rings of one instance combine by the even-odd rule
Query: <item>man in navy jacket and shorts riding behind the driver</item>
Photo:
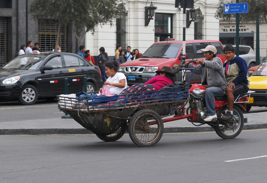
[(247, 93), (249, 88), (248, 65), (244, 59), (235, 55), (235, 49), (231, 44), (227, 44), (224, 49), (226, 61), (223, 64), (226, 77), (226, 93), (228, 100), (228, 111), (224, 116), (225, 120), (232, 120), (233, 106), (235, 98), (241, 93)]

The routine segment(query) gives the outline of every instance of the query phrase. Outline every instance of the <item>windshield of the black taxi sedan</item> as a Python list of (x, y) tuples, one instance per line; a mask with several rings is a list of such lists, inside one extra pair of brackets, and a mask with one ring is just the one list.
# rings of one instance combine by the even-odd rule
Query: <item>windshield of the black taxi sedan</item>
[(46, 55), (23, 54), (8, 62), (2, 69), (33, 70), (45, 57)]

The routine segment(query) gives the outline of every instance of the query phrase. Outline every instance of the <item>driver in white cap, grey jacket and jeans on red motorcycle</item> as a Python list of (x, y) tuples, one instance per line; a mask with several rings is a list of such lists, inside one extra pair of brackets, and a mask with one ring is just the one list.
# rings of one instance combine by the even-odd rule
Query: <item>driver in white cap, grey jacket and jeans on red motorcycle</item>
[[(205, 101), (207, 108), (207, 118), (204, 121), (211, 121), (217, 118), (215, 110), (215, 98), (224, 96), (226, 93), (226, 80), (222, 61), (216, 56), (215, 46), (208, 45), (203, 50), (205, 59), (196, 60), (200, 65), (188, 64), (188, 68), (195, 68), (195, 74), (202, 74), (201, 84), (207, 87), (205, 91)], [(187, 64), (187, 62), (185, 63)]]

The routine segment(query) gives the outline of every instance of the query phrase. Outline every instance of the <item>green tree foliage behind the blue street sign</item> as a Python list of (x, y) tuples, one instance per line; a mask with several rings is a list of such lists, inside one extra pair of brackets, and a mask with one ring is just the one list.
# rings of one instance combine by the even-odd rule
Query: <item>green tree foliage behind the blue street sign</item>
[[(221, 18), (224, 21), (235, 20), (236, 14), (224, 14), (223, 4), (236, 3), (236, 0), (229, 2), (220, 0), (215, 13), (215, 18)], [(260, 22), (267, 23), (267, 0), (240, 0), (239, 3), (248, 3), (248, 13), (239, 13), (239, 19), (241, 22), (255, 22), (259, 18)]]

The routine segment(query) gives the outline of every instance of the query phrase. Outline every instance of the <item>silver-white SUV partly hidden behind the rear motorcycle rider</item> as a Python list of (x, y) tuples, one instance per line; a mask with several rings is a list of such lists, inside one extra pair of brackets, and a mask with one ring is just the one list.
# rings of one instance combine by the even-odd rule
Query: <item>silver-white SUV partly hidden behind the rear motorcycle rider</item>
[[(233, 47), (236, 51), (236, 45)], [(239, 44), (239, 56), (246, 60), (248, 69), (256, 65), (256, 54), (250, 46)]]

